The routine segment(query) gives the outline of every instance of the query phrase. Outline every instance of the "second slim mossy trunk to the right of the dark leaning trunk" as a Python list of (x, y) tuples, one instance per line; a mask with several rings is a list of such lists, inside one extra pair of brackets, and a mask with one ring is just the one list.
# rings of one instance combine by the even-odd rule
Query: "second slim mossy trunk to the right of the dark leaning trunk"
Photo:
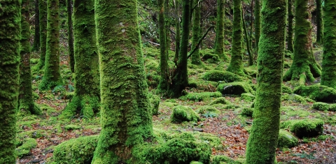
[(224, 53), (224, 19), (225, 19), (225, 1), (217, 0), (217, 20), (216, 20), (216, 38), (215, 54), (228, 61), (228, 56)]

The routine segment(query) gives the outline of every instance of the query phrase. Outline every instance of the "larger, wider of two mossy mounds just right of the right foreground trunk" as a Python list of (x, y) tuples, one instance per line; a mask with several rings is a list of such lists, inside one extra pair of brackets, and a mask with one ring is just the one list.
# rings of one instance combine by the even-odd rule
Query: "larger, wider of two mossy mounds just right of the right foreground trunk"
[(323, 132), (321, 119), (296, 119), (281, 122), (280, 128), (289, 128), (297, 137), (315, 137)]

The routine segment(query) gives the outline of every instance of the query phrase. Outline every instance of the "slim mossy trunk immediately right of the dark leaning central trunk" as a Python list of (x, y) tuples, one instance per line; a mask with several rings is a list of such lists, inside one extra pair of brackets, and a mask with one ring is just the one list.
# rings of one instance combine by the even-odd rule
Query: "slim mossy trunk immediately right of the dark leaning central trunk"
[[(196, 7), (194, 9), (194, 19), (193, 19), (193, 40), (191, 43), (191, 50), (194, 50), (197, 47), (198, 41), (200, 40), (201, 36), (201, 3), (198, 0), (195, 0)], [(200, 59), (200, 47), (195, 50), (193, 56), (191, 56), (191, 63), (200, 65), (202, 61)]]

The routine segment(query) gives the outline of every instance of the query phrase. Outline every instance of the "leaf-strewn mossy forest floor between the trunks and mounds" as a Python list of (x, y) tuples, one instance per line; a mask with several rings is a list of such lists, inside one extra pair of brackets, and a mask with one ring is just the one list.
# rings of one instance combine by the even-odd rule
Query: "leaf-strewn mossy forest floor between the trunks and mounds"
[[(144, 49), (146, 74), (151, 77), (155, 74), (158, 67), (158, 50), (152, 48)], [(318, 54), (318, 53), (317, 53)], [(321, 53), (320, 53), (321, 54)], [(172, 54), (173, 55), (173, 54)], [(172, 56), (171, 55), (171, 56)], [(286, 59), (290, 64), (290, 59)], [(34, 67), (38, 59), (32, 59)], [(93, 119), (83, 118), (80, 115), (73, 116), (71, 120), (61, 120), (57, 116), (61, 114), (69, 99), (66, 93), (73, 91), (73, 73), (69, 70), (68, 59), (62, 56), (61, 72), (66, 88), (54, 89), (53, 91), (38, 91), (38, 84), (41, 82), (43, 70), (33, 69), (33, 89), (34, 98), (39, 107), (43, 110), (40, 116), (25, 114), (20, 111), (18, 120), (18, 140), (25, 138), (35, 138), (38, 142), (37, 147), (31, 149), (28, 156), (18, 159), (18, 163), (50, 163), (53, 161), (52, 152), (57, 144), (87, 135), (98, 135), (101, 131), (99, 124), (99, 114)], [(188, 72), (191, 81), (201, 82), (197, 88), (188, 88), (188, 92), (216, 91), (216, 82), (207, 82), (202, 79), (202, 75), (209, 70), (225, 70), (228, 63), (204, 61), (203, 66), (189, 64)], [(247, 66), (246, 66), (247, 67)], [(250, 70), (256, 70), (255, 66), (248, 67)], [(250, 77), (251, 83), (255, 84), (255, 77)], [(155, 82), (151, 82), (149, 90), (155, 94)], [(288, 87), (295, 87), (296, 82), (283, 82)], [(209, 103), (215, 98), (208, 98), (200, 102), (186, 99), (167, 99), (161, 97), (158, 116), (153, 116), (153, 128), (163, 129), (169, 133), (183, 133), (185, 131), (198, 131), (197, 133), (211, 133), (221, 138), (222, 145), (212, 149), (213, 155), (225, 155), (230, 158), (244, 158), (246, 151), (246, 142), (248, 140), (248, 129), (251, 129), (252, 118), (241, 116), (243, 107), (250, 107), (252, 102), (241, 100), (239, 96), (224, 96), (236, 107), (233, 109), (223, 109), (220, 105), (216, 106), (221, 114), (218, 117), (202, 114), (201, 121), (183, 122), (182, 124), (173, 124), (170, 121), (172, 108), (176, 105), (188, 105), (197, 110)], [(299, 139), (300, 144), (293, 148), (276, 149), (276, 160), (279, 163), (336, 163), (336, 116), (335, 112), (323, 112), (312, 109), (312, 103), (298, 102), (293, 99), (283, 100), (283, 107), (289, 107), (290, 110), (281, 108), (281, 121), (288, 119), (322, 119), (323, 136)]]

